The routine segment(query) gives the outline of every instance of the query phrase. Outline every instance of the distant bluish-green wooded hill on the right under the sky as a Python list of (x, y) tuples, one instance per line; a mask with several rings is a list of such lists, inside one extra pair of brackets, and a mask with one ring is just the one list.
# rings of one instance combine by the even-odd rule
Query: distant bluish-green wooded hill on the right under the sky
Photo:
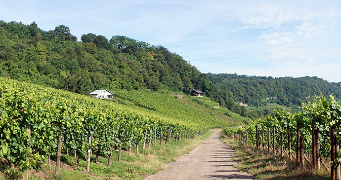
[[(230, 106), (233, 102), (261, 107), (268, 103), (282, 106), (300, 106), (301, 102), (312, 101), (315, 96), (333, 94), (341, 98), (341, 88), (338, 83), (314, 77), (278, 77), (247, 76), (237, 74), (208, 73), (213, 83), (213, 98), (220, 105)], [(231, 100), (232, 97), (232, 100)]]

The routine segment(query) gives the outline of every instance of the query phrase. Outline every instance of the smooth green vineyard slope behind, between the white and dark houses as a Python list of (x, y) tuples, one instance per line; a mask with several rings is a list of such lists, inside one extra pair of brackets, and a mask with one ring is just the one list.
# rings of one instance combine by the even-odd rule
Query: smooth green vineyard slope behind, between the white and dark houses
[(127, 99), (141, 108), (149, 109), (149, 115), (158, 114), (162, 119), (168, 119), (173, 123), (180, 123), (193, 129), (231, 126), (230, 123), (182, 103), (167, 94), (126, 90), (115, 91), (115, 93), (118, 97)]

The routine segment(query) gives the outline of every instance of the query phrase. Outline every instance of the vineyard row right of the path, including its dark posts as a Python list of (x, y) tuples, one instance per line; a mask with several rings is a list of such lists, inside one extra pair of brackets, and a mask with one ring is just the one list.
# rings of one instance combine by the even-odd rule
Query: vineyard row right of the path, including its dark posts
[(305, 102), (302, 111), (292, 114), (276, 109), (274, 117), (256, 119), (240, 128), (227, 127), (223, 133), (241, 144), (255, 144), (256, 149), (301, 167), (308, 163), (312, 171), (331, 172), (331, 179), (341, 178), (339, 142), (341, 106), (332, 95)]

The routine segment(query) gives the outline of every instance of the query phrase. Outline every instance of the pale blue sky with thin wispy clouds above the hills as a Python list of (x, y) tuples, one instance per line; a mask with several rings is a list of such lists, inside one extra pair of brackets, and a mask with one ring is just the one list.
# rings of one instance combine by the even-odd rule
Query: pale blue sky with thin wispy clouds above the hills
[(340, 0), (2, 0), (0, 20), (128, 36), (203, 73), (341, 81)]

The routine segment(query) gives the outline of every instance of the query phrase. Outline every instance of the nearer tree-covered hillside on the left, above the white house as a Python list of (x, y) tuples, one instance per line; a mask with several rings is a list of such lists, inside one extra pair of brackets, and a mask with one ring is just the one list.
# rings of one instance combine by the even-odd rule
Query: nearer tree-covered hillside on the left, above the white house
[[(189, 94), (208, 79), (181, 56), (126, 36), (87, 34), (64, 25), (43, 31), (33, 22), (0, 21), (0, 75), (80, 94), (95, 89)], [(205, 89), (203, 89), (205, 91)]]

